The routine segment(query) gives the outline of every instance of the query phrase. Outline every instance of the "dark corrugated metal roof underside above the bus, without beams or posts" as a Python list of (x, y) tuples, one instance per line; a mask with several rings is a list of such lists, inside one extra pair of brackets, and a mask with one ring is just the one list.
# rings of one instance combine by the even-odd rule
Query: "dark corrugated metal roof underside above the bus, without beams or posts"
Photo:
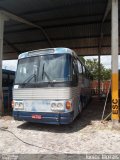
[[(98, 54), (107, 2), (108, 0), (1, 0), (0, 9), (40, 25), (54, 47), (69, 47), (79, 55), (94, 55)], [(110, 19), (109, 14), (103, 24), (102, 54), (110, 54)], [(10, 54), (14, 57), (14, 53), (18, 52), (51, 47), (40, 29), (12, 20), (5, 23), (4, 40), (6, 57)]]

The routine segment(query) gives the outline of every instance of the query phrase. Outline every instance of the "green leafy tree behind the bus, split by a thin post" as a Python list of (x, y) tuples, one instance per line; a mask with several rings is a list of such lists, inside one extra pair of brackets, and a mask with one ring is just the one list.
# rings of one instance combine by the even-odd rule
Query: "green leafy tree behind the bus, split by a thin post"
[[(93, 75), (94, 80), (98, 80), (99, 76), (99, 68), (98, 68), (98, 61), (97, 59), (93, 60), (86, 60), (85, 65), (87, 66), (88, 70)], [(100, 64), (100, 80), (110, 80), (111, 79), (111, 69), (106, 69), (103, 64)]]

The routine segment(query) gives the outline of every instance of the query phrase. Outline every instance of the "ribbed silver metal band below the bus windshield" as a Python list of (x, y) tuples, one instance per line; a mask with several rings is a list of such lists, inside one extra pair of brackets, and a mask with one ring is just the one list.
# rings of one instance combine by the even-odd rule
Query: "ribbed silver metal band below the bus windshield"
[(72, 99), (79, 96), (77, 87), (13, 89), (13, 99)]

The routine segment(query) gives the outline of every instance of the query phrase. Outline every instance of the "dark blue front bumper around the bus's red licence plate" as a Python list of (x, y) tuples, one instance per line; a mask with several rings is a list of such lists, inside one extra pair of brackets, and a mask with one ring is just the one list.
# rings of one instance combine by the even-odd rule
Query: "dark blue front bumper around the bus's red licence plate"
[[(33, 119), (32, 115), (41, 115), (41, 119)], [(13, 111), (13, 117), (15, 120), (24, 120), (35, 123), (47, 123), (47, 124), (69, 124), (74, 119), (74, 112), (68, 113), (45, 113), (45, 112), (24, 112)]]

